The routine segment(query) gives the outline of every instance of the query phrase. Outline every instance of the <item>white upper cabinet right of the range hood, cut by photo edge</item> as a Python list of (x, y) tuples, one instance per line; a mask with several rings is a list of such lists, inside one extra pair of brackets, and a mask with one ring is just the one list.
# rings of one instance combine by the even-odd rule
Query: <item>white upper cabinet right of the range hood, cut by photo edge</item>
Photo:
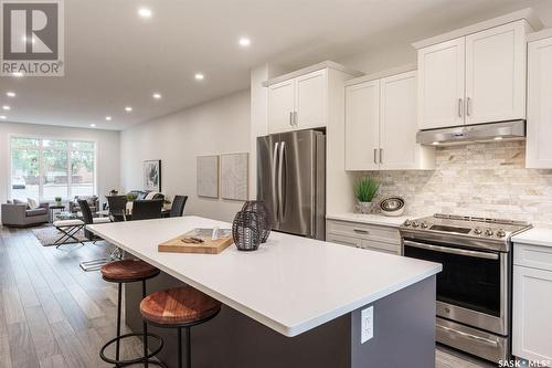
[(529, 42), (527, 112), (528, 168), (552, 169), (552, 32)]

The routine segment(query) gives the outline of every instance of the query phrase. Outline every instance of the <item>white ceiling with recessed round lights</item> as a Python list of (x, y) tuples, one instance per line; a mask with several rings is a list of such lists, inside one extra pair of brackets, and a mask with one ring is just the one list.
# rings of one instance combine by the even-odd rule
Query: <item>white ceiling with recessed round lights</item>
[[(71, 0), (65, 76), (0, 77), (8, 120), (125, 129), (250, 85), (264, 62), (288, 67), (378, 52), (550, 0)], [(152, 18), (138, 17), (140, 7)], [(237, 40), (247, 35), (248, 50)], [(193, 75), (204, 73), (198, 82)], [(15, 98), (6, 96), (14, 91)], [(162, 99), (151, 98), (160, 92)], [(124, 107), (132, 106), (132, 113)], [(105, 116), (113, 116), (106, 122)], [(1, 123), (0, 123), (1, 124)]]

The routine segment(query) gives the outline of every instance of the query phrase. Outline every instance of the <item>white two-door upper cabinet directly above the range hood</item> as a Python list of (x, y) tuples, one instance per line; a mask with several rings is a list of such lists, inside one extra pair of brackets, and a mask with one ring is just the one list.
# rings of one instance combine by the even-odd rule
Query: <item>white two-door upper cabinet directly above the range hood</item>
[(418, 50), (421, 129), (526, 118), (526, 20)]

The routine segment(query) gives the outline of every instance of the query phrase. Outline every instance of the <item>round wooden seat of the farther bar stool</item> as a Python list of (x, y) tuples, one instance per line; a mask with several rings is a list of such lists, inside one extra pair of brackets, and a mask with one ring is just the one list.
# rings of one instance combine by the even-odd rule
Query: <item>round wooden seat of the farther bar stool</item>
[(102, 266), (102, 277), (116, 283), (151, 278), (157, 276), (159, 272), (159, 269), (139, 260), (123, 260)]

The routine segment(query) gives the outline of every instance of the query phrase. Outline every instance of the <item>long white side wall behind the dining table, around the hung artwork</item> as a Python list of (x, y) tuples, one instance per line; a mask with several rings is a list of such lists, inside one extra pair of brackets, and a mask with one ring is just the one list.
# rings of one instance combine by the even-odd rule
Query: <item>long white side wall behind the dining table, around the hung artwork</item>
[(160, 159), (161, 191), (189, 196), (187, 214), (232, 221), (243, 202), (198, 197), (195, 158), (248, 153), (250, 106), (243, 91), (121, 132), (121, 189), (142, 189), (144, 160)]

